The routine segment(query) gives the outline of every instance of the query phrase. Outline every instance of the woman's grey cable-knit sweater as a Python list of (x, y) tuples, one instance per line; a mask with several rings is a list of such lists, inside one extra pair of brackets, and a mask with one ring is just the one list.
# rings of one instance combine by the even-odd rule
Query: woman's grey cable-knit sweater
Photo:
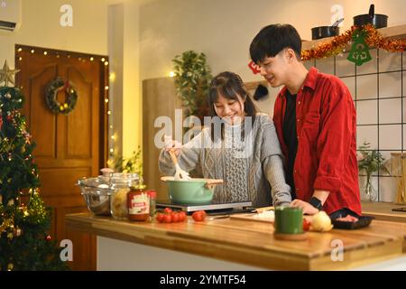
[[(224, 139), (211, 142), (210, 128), (184, 144), (178, 156), (180, 168), (199, 167), (204, 178), (223, 179), (213, 200), (218, 202), (251, 200), (254, 207), (287, 205), (291, 188), (285, 182), (283, 155), (272, 119), (265, 114), (255, 117), (249, 137), (241, 138), (242, 126), (225, 126)], [(159, 168), (174, 175), (171, 156), (161, 150)]]

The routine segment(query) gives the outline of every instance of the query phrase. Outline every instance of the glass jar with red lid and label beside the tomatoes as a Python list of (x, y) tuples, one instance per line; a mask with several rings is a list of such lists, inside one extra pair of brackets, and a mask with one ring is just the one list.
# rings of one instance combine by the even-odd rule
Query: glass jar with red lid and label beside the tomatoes
[(127, 194), (128, 219), (145, 221), (150, 215), (150, 197), (143, 186), (131, 187)]

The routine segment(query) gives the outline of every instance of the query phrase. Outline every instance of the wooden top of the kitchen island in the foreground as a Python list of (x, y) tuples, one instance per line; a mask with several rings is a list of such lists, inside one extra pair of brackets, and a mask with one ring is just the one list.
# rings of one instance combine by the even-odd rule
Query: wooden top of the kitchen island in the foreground
[[(363, 266), (406, 252), (406, 224), (374, 220), (357, 230), (309, 232), (305, 241), (273, 238), (272, 223), (213, 219), (183, 223), (139, 223), (91, 214), (70, 214), (70, 229), (153, 247), (282, 270), (334, 270)], [(332, 243), (333, 242), (333, 243)], [(344, 261), (333, 262), (334, 242), (344, 245)], [(336, 255), (335, 255), (336, 256)]]

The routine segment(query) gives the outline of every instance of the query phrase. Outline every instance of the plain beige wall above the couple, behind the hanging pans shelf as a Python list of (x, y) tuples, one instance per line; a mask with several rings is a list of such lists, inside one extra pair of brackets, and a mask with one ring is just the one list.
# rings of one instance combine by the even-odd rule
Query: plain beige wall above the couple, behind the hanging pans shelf
[[(389, 26), (406, 23), (404, 0), (373, 1), (376, 14), (388, 14)], [(311, 28), (330, 24), (332, 5), (344, 7), (342, 31), (353, 16), (367, 14), (367, 0), (164, 0), (140, 10), (141, 79), (168, 76), (171, 60), (183, 51), (205, 52), (216, 74), (232, 70), (245, 81), (261, 79), (247, 68), (254, 35), (270, 23), (291, 23), (303, 39)]]

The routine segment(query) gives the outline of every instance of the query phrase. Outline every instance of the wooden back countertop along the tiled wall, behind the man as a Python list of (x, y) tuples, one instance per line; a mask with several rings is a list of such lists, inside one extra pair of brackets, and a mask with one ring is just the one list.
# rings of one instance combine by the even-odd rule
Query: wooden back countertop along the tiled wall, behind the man
[(392, 211), (394, 208), (405, 208), (406, 204), (392, 202), (363, 201), (361, 202), (363, 215), (372, 216), (375, 219), (389, 220), (392, 222), (406, 223), (406, 211)]

